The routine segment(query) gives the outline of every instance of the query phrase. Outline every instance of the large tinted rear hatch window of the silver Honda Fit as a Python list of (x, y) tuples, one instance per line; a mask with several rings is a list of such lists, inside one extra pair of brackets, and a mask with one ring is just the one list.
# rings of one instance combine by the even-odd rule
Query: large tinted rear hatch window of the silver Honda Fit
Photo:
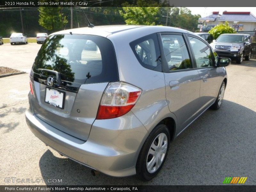
[(114, 47), (100, 36), (49, 36), (37, 54), (33, 71), (44, 80), (54, 75), (39, 68), (58, 71), (62, 81), (78, 84), (118, 81)]

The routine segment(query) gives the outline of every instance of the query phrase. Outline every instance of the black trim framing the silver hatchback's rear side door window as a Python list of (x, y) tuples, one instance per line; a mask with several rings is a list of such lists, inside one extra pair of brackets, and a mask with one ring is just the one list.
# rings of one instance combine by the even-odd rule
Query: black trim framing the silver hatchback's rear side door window
[[(187, 68), (187, 69), (178, 69), (178, 70), (174, 70), (174, 71), (170, 71), (169, 70), (169, 67), (168, 67), (168, 64), (167, 64), (167, 60), (166, 60), (166, 57), (164, 55), (164, 48), (163, 48), (163, 43), (162, 43), (162, 38), (161, 38), (161, 35), (180, 35), (183, 37), (183, 40), (187, 46), (187, 50), (188, 50), (188, 56), (189, 56), (189, 59), (191, 61), (191, 65), (192, 65), (192, 68)], [(194, 62), (192, 60), (192, 52), (190, 50), (190, 47), (188, 45), (188, 41), (187, 41), (187, 38), (185, 36), (185, 33), (179, 33), (179, 32), (160, 32), (160, 33), (157, 33), (157, 37), (158, 37), (158, 42), (159, 42), (159, 47), (160, 47), (160, 53), (161, 53), (161, 59), (162, 59), (162, 68), (163, 68), (163, 72), (164, 73), (176, 73), (176, 72), (182, 72), (182, 71), (190, 71), (190, 70), (195, 70), (195, 66), (194, 66)]]

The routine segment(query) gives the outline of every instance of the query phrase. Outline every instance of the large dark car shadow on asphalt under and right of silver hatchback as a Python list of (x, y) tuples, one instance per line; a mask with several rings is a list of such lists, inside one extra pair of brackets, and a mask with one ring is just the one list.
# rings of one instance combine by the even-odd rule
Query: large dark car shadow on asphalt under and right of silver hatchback
[(253, 185), (255, 125), (255, 111), (223, 100), (219, 110), (207, 110), (171, 143), (162, 170), (148, 182), (136, 176), (93, 177), (90, 168), (54, 156), (52, 149), (42, 155), (39, 166), (43, 179), (62, 179), (47, 185), (220, 185), (227, 176), (246, 176), (246, 184)]

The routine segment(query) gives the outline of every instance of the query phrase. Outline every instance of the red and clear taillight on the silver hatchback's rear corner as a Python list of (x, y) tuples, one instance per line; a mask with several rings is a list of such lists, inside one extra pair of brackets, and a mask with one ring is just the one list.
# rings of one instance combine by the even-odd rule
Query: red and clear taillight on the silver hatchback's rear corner
[(142, 90), (124, 82), (109, 83), (104, 91), (96, 119), (111, 119), (128, 113), (140, 98)]

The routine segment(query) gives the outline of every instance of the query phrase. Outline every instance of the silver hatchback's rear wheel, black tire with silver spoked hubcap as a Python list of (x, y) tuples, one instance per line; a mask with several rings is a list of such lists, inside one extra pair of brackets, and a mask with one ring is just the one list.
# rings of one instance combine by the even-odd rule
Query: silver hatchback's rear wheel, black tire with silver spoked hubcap
[[(163, 145), (158, 143), (161, 138), (163, 138)], [(148, 135), (137, 159), (136, 174), (140, 180), (149, 181), (161, 170), (168, 153), (169, 143), (170, 132), (167, 126), (164, 124), (157, 125)], [(159, 147), (157, 147), (156, 144), (159, 145)], [(153, 155), (155, 150), (152, 146), (154, 146), (155, 150), (159, 150), (155, 156)], [(161, 148), (163, 148), (162, 152), (160, 150)], [(150, 151), (153, 153), (150, 153)], [(151, 161), (152, 166), (150, 166)], [(158, 166), (156, 162), (158, 162)]]

